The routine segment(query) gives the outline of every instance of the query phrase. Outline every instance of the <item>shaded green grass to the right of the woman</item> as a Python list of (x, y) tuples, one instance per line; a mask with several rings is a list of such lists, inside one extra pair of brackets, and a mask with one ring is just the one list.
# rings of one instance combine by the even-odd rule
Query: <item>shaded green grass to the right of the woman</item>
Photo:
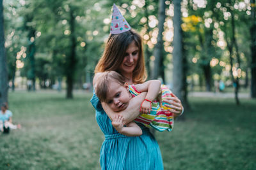
[(164, 169), (256, 169), (256, 101), (190, 99), (193, 112), (157, 133)]

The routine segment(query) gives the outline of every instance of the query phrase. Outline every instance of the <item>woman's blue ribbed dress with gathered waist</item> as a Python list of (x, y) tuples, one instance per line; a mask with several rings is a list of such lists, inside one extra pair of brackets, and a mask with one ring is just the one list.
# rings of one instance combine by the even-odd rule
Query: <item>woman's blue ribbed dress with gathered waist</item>
[(143, 134), (128, 137), (118, 133), (102, 109), (99, 98), (93, 94), (91, 103), (96, 110), (96, 120), (105, 135), (100, 150), (101, 169), (162, 170), (163, 160), (156, 139), (149, 129), (139, 124)]

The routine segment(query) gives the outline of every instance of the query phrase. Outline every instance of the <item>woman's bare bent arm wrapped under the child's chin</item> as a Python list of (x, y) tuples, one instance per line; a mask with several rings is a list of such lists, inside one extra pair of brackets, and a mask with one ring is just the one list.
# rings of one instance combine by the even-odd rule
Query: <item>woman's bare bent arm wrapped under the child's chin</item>
[(145, 96), (147, 95), (147, 92), (142, 92), (138, 96), (132, 97), (132, 99), (129, 101), (129, 105), (127, 108), (120, 112), (114, 112), (111, 110), (108, 106), (108, 104), (102, 102), (102, 108), (107, 113), (108, 117), (113, 120), (115, 118), (115, 115), (122, 115), (123, 117), (123, 124), (128, 124), (129, 122), (132, 122), (135, 118), (137, 118), (140, 115), (140, 106), (143, 100), (145, 99)]

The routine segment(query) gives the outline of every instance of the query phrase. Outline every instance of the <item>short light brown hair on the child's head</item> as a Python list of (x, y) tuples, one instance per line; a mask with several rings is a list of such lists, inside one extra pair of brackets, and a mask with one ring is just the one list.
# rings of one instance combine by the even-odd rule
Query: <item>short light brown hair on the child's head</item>
[(125, 84), (124, 77), (116, 71), (97, 73), (95, 80), (95, 93), (102, 102), (106, 102), (108, 89), (112, 82), (116, 82), (122, 86)]

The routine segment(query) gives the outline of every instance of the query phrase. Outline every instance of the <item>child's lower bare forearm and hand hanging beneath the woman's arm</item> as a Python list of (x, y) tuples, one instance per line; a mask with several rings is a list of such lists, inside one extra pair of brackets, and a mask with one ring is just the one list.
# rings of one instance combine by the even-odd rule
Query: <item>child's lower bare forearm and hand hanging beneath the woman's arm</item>
[(115, 127), (116, 131), (120, 134), (124, 134), (125, 136), (141, 136), (142, 130), (136, 123), (130, 122), (129, 124), (126, 124), (126, 127), (124, 127), (122, 122), (123, 117), (120, 115), (116, 115), (112, 121), (113, 127)]

